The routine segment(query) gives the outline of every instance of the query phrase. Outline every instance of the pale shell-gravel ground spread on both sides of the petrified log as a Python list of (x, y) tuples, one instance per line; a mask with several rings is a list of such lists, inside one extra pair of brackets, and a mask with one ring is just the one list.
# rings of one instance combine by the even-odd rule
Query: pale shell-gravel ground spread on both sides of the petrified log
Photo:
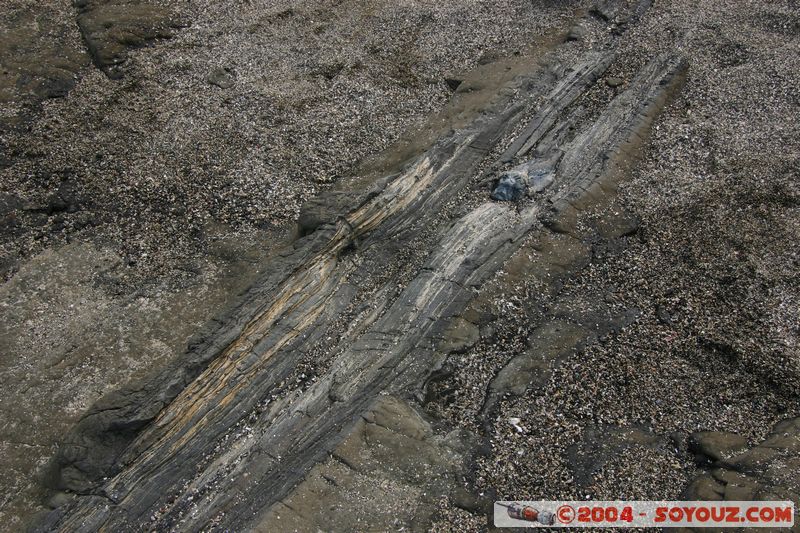
[[(0, 87), (4, 124), (22, 117), (0, 132), (2, 527), (40, 508), (36, 478), (80, 412), (182, 350), (305, 200), (440, 109), (446, 78), (525, 49), (582, 4), (174, 2), (190, 25), (132, 53), (119, 81), (81, 57), (68, 2), (4, 7), (6, 27), (27, 21), (22, 41), (58, 36), (77, 81), (40, 104), (34, 85)], [(673, 47), (689, 57), (686, 86), (621, 189), (638, 231), (542, 297), (600, 297), (639, 318), (501, 406), (476, 492), (677, 498), (699, 471), (688, 433), (754, 444), (800, 414), (800, 7), (656, 0), (613, 74)], [(41, 48), (30, 61), (52, 55)], [(219, 69), (225, 88), (209, 83)], [(75, 209), (53, 209), (59, 198)], [(488, 380), (531, 330), (515, 302), (539, 289), (520, 281), (496, 302), (504, 325), (459, 355), (455, 400), (437, 416), (478, 429)], [(573, 445), (632, 427), (664, 444), (609, 444), (601, 475), (575, 479)], [(486, 523), (446, 504), (435, 527), (451, 520)]]

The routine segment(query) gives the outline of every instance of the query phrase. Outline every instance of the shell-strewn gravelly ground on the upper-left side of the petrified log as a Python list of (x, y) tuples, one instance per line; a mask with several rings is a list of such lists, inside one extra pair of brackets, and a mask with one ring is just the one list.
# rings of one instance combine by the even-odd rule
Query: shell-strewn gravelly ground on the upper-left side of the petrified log
[[(292, 239), (308, 198), (340, 176), (392, 173), (359, 161), (387, 146), (419, 154), (449, 127), (431, 115), (462, 97), (446, 70), (469, 71), (484, 54), (522, 63), (515, 51), (535, 53), (571, 4), (171, 2), (191, 27), (131, 50), (117, 81), (91, 65), (71, 1), (4, 3), (0, 26), (22, 30), (13, 41), (77, 50), (82, 66), (67, 98), (38, 108), (15, 96), (29, 86), (17, 86), (13, 63), (2, 73), (14, 102), (3, 117), (30, 122), (0, 131), (0, 275), (11, 278), (0, 291), (0, 530), (63, 501), (38, 487), (63, 436), (236, 303)], [(451, 20), (463, 27), (441, 31)], [(15, 53), (4, 67), (41, 64)], [(483, 86), (515, 75), (488, 67)], [(235, 85), (210, 85), (218, 70)], [(483, 94), (467, 83), (465, 102)]]

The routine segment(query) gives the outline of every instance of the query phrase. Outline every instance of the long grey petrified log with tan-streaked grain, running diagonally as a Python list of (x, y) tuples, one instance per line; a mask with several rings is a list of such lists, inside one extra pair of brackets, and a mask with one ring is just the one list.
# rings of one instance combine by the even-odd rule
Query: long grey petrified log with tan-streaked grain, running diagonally
[[(654, 58), (599, 116), (578, 120), (572, 104), (612, 61), (591, 52), (531, 65), (470, 125), (319, 217), (184, 358), (87, 413), (52, 477), (85, 496), (42, 528), (252, 527), (381, 393), (421, 393), (451, 318), (531, 229), (561, 231), (602, 195), (686, 69), (680, 56)], [(520, 143), (513, 132), (526, 118)], [(441, 216), (500, 168), (503, 151), (520, 163), (555, 150), (554, 183), (536, 201), (484, 199)]]

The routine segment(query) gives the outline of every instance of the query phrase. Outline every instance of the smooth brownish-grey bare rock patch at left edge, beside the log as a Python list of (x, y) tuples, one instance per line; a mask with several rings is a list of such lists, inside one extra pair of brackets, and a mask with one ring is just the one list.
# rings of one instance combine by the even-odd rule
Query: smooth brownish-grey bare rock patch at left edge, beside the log
[[(182, 353), (187, 338), (247, 288), (265, 257), (264, 242), (220, 239), (208, 261), (197, 265), (197, 277), (177, 286), (142, 286), (134, 294), (119, 291), (132, 268), (124, 257), (107, 246), (72, 243), (25, 263), (0, 287), (0, 529), (24, 529), (23, 517), (33, 510), (74, 496), (40, 489), (64, 432), (98, 397)], [(127, 398), (128, 405), (134, 400)], [(126, 405), (120, 392), (107, 401)], [(116, 429), (124, 435), (136, 423)], [(64, 475), (74, 486), (85, 479), (78, 469)]]

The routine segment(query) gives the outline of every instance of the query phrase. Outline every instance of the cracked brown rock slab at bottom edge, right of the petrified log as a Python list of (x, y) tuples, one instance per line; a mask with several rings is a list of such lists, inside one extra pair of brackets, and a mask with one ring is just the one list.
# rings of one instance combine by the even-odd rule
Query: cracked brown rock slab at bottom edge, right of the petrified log
[(437, 432), (409, 404), (382, 396), (253, 530), (424, 530), (441, 498), (463, 493), (476, 441), (460, 430)]

